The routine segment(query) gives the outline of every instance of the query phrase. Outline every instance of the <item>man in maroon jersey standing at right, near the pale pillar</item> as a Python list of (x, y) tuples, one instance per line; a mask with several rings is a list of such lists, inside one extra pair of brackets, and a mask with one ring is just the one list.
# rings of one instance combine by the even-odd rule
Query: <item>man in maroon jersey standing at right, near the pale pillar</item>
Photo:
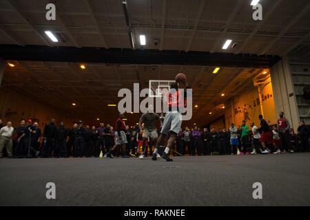
[(280, 118), (278, 119), (278, 129), (279, 129), (279, 135), (282, 141), (282, 153), (294, 153), (294, 151), (291, 149), (291, 142), (289, 140), (289, 128), (291, 126), (289, 125), (289, 121), (287, 118), (284, 117), (284, 112), (281, 111)]

